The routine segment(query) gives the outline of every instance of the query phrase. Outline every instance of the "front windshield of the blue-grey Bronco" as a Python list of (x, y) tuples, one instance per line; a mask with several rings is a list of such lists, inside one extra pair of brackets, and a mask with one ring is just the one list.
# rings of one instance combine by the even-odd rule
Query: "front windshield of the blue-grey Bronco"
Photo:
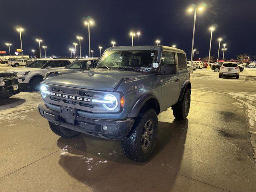
[(151, 71), (156, 61), (156, 51), (150, 50), (108, 50), (102, 56), (97, 68), (111, 70)]

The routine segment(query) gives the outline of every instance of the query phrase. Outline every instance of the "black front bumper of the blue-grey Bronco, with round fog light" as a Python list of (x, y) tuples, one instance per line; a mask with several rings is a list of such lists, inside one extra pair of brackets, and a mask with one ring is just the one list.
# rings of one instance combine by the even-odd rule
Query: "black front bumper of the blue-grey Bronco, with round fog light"
[[(38, 110), (41, 116), (50, 122), (71, 130), (106, 139), (123, 140), (126, 138), (134, 124), (134, 119), (131, 118), (94, 120), (80, 116), (76, 116), (73, 124), (68, 123), (65, 118), (62, 118), (60, 112), (50, 110), (46, 105), (39, 105)], [(107, 131), (102, 129), (102, 126), (104, 125), (108, 127)]]

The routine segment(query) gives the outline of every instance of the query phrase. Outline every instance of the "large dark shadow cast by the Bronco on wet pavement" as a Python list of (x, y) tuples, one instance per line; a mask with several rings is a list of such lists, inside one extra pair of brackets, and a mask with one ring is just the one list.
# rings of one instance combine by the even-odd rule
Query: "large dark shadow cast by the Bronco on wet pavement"
[[(142, 180), (141, 174), (150, 174), (151, 178), (145, 181), (148, 184), (153, 184), (157, 188), (159, 185), (160, 177), (164, 177), (163, 170), (161, 169), (162, 158), (164, 162), (168, 162), (168, 176), (163, 178), (162, 182), (166, 182), (168, 189), (172, 188), (175, 183), (177, 172), (182, 162), (184, 152), (184, 144), (186, 142), (186, 134), (188, 130), (188, 120), (174, 120), (169, 122), (158, 122), (158, 138), (156, 141), (155, 149), (152, 156), (146, 162), (134, 162), (126, 158), (121, 150), (114, 156), (109, 156), (108, 153), (113, 151), (114, 148), (120, 149), (120, 141), (110, 141), (96, 138), (98, 142), (91, 144), (86, 142), (84, 134), (78, 135), (76, 138), (59, 138), (57, 146), (63, 150), (63, 146), (67, 154), (60, 155), (59, 164), (66, 170), (66, 172), (76, 180), (92, 186), (94, 189), (106, 190), (104, 182), (108, 183), (108, 189), (115, 189), (118, 191), (120, 186), (114, 186), (110, 180), (124, 180), (125, 185), (137, 185), (144, 189), (139, 183), (129, 183), (129, 178), (135, 179), (136, 182)], [(96, 145), (95, 145), (96, 144)], [(162, 150), (164, 150), (162, 152)], [(98, 154), (99, 151), (104, 153)], [(158, 156), (159, 155), (159, 156)], [(93, 157), (94, 164), (92, 170), (88, 171), (88, 158)], [(108, 163), (98, 166), (98, 160), (107, 160)], [(90, 166), (89, 166), (90, 167)], [(166, 167), (167, 168), (167, 167)], [(165, 171), (165, 170), (164, 170)], [(166, 172), (165, 172), (166, 173)], [(121, 178), (119, 178), (121, 176)], [(166, 181), (164, 181), (166, 180)], [(144, 183), (145, 184), (145, 183)]]

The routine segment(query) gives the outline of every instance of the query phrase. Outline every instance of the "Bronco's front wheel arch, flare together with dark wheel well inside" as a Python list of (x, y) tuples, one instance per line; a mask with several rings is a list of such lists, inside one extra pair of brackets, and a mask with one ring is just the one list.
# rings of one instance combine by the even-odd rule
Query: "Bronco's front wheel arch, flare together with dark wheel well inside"
[(127, 117), (134, 118), (138, 116), (143, 108), (152, 108), (156, 111), (157, 115), (160, 113), (160, 104), (156, 96), (153, 94), (144, 94), (136, 101)]

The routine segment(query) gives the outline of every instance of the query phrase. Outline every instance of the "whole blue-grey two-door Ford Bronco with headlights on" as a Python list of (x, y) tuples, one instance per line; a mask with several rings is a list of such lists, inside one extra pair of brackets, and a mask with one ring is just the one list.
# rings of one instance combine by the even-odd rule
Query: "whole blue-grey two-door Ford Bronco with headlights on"
[(182, 50), (111, 47), (95, 69), (49, 74), (38, 108), (55, 134), (121, 140), (124, 155), (142, 162), (154, 149), (158, 114), (172, 107), (175, 118), (188, 116), (189, 78)]

